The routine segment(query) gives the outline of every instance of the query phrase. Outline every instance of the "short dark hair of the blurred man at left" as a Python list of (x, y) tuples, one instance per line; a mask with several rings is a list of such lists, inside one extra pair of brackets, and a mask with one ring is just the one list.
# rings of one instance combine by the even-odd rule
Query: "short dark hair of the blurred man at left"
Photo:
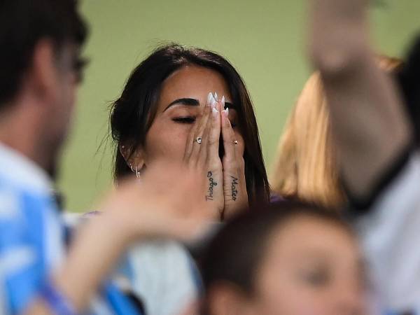
[(66, 43), (81, 46), (86, 36), (76, 0), (0, 0), (0, 110), (18, 93), (41, 39), (59, 52)]

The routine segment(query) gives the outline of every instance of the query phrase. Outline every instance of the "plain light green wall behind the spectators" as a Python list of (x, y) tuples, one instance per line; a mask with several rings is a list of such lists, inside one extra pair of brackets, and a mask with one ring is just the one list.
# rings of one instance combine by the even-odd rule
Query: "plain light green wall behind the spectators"
[[(267, 169), (297, 95), (310, 73), (304, 58), (304, 0), (84, 0), (90, 66), (63, 154), (59, 188), (69, 211), (92, 209), (111, 188), (108, 107), (130, 71), (162, 42), (215, 50), (243, 76), (255, 104)], [(385, 0), (372, 9), (379, 52), (401, 56), (420, 30), (420, 1)], [(99, 148), (99, 150), (98, 150)]]

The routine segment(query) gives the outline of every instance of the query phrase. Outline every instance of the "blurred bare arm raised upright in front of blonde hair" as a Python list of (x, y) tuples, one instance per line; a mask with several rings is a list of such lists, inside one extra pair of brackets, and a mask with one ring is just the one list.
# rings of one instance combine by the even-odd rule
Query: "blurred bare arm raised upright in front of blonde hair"
[(412, 137), (398, 92), (370, 49), (368, 3), (310, 1), (311, 62), (323, 78), (344, 185), (360, 201)]

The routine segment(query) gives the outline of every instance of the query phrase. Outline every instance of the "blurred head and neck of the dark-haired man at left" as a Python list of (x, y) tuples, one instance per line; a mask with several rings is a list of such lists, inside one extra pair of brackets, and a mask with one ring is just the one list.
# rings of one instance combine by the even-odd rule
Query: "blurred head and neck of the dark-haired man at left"
[(76, 2), (0, 1), (0, 141), (51, 176), (83, 67)]

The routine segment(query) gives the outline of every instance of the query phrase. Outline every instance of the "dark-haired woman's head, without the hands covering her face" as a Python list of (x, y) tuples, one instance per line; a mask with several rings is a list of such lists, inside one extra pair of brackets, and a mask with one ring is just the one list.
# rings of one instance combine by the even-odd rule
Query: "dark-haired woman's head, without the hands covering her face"
[[(205, 140), (205, 130), (194, 137), (190, 133), (200, 124), (204, 106), (212, 97), (220, 103), (223, 99), (224, 109), (228, 109), (225, 113), (237, 156), (231, 164), (243, 169), (245, 195), (249, 202), (257, 196), (267, 200), (269, 186), (258, 127), (244, 81), (221, 55), (176, 44), (162, 46), (144, 59), (113, 104), (116, 180), (133, 172), (141, 177), (141, 172), (158, 160), (182, 161), (190, 142), (198, 148)], [(228, 152), (224, 138), (221, 134), (220, 144), (217, 141), (219, 163)]]

